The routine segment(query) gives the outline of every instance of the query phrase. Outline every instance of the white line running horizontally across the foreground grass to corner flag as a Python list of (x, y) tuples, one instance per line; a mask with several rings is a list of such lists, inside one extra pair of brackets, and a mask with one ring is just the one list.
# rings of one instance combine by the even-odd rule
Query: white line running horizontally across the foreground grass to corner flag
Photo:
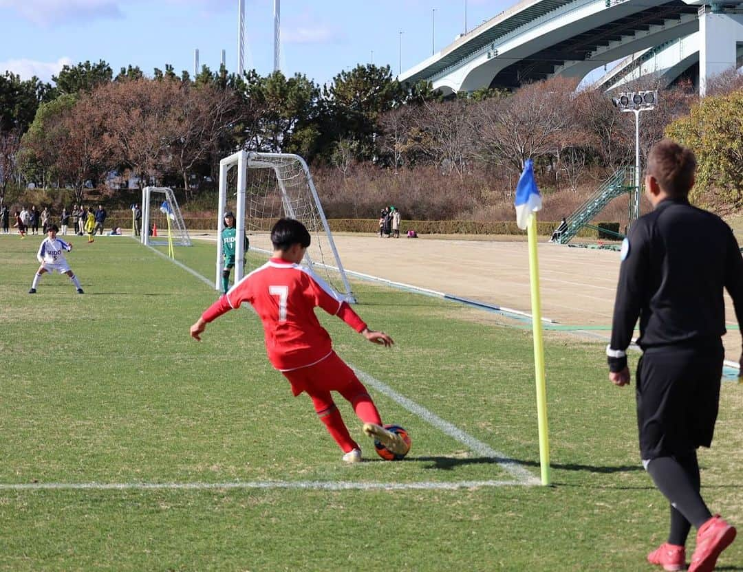
[(2, 490), (458, 490), (483, 487), (522, 487), (522, 481), (418, 481), (365, 483), (354, 481), (233, 481), (230, 483), (19, 483), (0, 484)]

